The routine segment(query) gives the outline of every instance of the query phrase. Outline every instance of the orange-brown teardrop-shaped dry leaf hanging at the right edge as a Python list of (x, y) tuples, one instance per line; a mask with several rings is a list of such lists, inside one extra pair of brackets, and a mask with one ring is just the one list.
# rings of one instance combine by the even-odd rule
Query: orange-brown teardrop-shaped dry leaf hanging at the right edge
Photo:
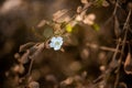
[(132, 74), (132, 56), (131, 53), (128, 53), (124, 62), (124, 72), (129, 75)]

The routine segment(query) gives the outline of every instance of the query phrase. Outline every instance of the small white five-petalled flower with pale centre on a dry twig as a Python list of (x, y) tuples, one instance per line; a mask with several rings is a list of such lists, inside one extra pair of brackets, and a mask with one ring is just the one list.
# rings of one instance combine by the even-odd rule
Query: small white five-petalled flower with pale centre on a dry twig
[(63, 37), (57, 36), (57, 37), (52, 37), (50, 47), (53, 47), (55, 51), (61, 50), (61, 46), (63, 45)]

